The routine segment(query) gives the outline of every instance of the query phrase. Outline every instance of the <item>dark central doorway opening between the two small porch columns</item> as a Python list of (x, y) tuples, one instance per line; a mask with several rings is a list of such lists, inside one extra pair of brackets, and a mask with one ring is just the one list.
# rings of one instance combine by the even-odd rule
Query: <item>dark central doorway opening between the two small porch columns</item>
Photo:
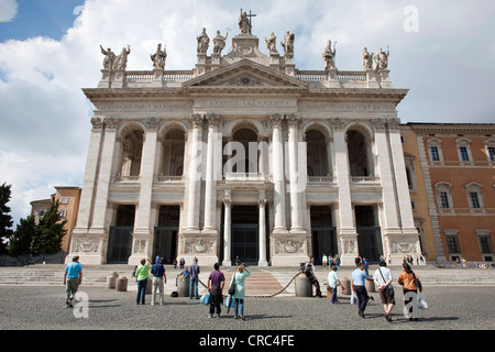
[(260, 229), (258, 209), (256, 206), (232, 207), (232, 249), (231, 260), (235, 265), (235, 257), (241, 263), (257, 265), (260, 260)]

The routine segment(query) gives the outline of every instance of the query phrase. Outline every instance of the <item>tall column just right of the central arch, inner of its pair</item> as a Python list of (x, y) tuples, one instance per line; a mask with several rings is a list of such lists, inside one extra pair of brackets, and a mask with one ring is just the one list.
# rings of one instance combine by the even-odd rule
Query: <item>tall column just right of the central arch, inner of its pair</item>
[(282, 140), (282, 120), (280, 114), (274, 114), (271, 118), (272, 136), (272, 162), (273, 162), (273, 198), (275, 211), (274, 232), (286, 232), (285, 221), (285, 187), (284, 187), (284, 151)]

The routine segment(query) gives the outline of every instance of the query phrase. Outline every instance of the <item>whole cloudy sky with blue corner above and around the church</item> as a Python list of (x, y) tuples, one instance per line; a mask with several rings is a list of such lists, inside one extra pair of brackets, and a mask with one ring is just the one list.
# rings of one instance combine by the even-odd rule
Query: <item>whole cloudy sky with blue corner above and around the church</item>
[(403, 123), (495, 122), (493, 0), (0, 0), (0, 184), (12, 185), (13, 228), (30, 201), (82, 185), (92, 106), (81, 88), (101, 77), (99, 45), (130, 45), (128, 70), (151, 70), (163, 43), (166, 69), (193, 69), (202, 28), (229, 32), (228, 50), (241, 8), (256, 14), (264, 54), (272, 32), (278, 43), (295, 33), (298, 69), (324, 69), (329, 40), (340, 70), (362, 70), (364, 46), (388, 46), (391, 80), (409, 89)]

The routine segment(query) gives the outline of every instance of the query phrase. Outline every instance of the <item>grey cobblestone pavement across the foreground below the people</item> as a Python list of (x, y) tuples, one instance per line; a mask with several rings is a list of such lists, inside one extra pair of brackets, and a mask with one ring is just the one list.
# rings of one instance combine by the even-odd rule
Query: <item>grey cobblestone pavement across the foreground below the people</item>
[[(419, 321), (406, 319), (403, 294), (397, 293), (393, 321), (387, 322), (377, 293), (366, 308), (366, 318), (358, 316), (349, 296), (337, 305), (327, 298), (248, 298), (246, 320), (234, 320), (232, 309), (222, 307), (220, 319), (208, 318), (208, 307), (189, 298), (165, 297), (165, 306), (135, 304), (135, 292), (116, 292), (105, 287), (85, 287), (85, 310), (66, 309), (65, 288), (61, 286), (0, 286), (0, 329), (29, 330), (493, 330), (495, 329), (495, 289), (493, 286), (425, 286), (429, 308), (420, 310)], [(82, 315), (77, 318), (76, 315)]]

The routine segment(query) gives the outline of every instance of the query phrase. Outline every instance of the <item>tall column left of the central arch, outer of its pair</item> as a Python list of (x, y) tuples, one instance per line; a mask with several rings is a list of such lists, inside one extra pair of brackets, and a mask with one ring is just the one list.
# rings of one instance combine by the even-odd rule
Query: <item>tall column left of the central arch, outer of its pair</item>
[(187, 231), (199, 231), (199, 200), (201, 188), (201, 138), (202, 138), (202, 117), (200, 114), (191, 116), (190, 125), (193, 136), (188, 145), (189, 165), (188, 165), (188, 207), (187, 207)]

